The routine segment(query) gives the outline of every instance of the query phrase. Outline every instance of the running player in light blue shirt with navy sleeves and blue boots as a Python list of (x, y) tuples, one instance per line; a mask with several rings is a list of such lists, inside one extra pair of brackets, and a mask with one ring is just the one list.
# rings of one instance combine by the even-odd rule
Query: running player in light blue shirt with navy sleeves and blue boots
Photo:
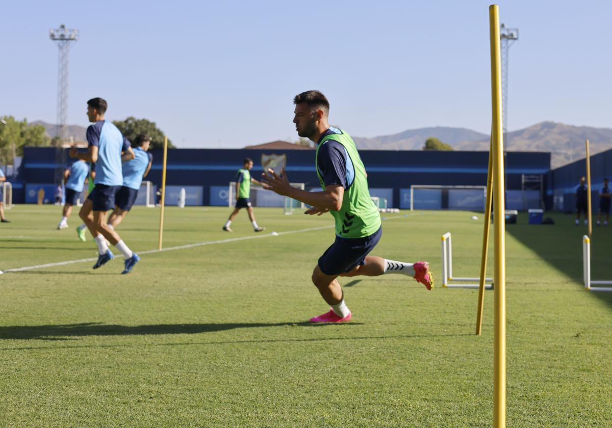
[(114, 259), (113, 253), (106, 244), (107, 239), (124, 256), (125, 267), (121, 273), (129, 273), (140, 257), (125, 245), (117, 232), (108, 227), (106, 212), (113, 208), (114, 196), (123, 184), (122, 152), (131, 153), (132, 158), (134, 153), (130, 142), (121, 135), (121, 131), (111, 122), (104, 120), (106, 106), (106, 101), (102, 98), (92, 98), (87, 101), (87, 116), (89, 122), (93, 124), (87, 128), (89, 148), (87, 153), (79, 153), (76, 147), (73, 147), (70, 149), (70, 157), (94, 162), (96, 165), (94, 190), (89, 194), (79, 212), (79, 216), (98, 245), (99, 256), (94, 269)]

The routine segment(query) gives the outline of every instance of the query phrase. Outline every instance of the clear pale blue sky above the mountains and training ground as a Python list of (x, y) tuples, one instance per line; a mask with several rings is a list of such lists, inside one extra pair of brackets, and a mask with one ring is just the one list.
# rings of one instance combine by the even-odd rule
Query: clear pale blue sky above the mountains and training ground
[[(372, 137), (429, 126), (490, 129), (488, 5), (471, 1), (4, 2), (0, 116), (55, 122), (50, 28), (70, 51), (69, 124), (86, 100), (146, 117), (179, 147), (295, 141), (293, 96), (319, 89), (330, 122)], [(501, 1), (509, 129), (543, 120), (612, 127), (612, 2)]]

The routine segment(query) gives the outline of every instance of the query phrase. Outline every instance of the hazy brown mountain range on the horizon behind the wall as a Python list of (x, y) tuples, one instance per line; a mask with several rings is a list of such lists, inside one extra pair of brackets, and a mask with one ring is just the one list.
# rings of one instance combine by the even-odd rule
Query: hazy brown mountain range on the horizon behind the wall
[[(56, 135), (56, 126), (37, 120), (48, 135)], [(69, 125), (68, 135), (74, 141), (85, 141), (87, 128)], [(374, 138), (353, 136), (355, 144), (364, 150), (421, 150), (429, 137), (440, 139), (455, 150), (488, 150), (489, 136), (466, 128), (431, 127), (407, 130)], [(510, 152), (551, 152), (551, 167), (584, 158), (584, 140), (591, 141), (591, 154), (612, 149), (612, 129), (575, 127), (557, 122), (542, 122), (506, 135), (506, 149)]]

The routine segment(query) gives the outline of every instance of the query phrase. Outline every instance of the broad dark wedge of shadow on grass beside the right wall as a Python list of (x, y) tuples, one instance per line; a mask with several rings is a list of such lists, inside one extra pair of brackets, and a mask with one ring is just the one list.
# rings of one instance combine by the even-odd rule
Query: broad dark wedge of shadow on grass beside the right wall
[[(528, 224), (527, 213), (520, 213), (517, 224), (510, 224), (506, 232), (518, 242), (538, 254), (552, 267), (576, 281), (577, 289), (583, 289), (582, 237), (586, 226), (575, 226), (575, 215), (546, 213), (555, 224)], [(591, 279), (610, 279), (610, 241), (612, 231), (594, 229), (591, 242)], [(612, 306), (612, 293), (592, 292), (596, 298)]]

